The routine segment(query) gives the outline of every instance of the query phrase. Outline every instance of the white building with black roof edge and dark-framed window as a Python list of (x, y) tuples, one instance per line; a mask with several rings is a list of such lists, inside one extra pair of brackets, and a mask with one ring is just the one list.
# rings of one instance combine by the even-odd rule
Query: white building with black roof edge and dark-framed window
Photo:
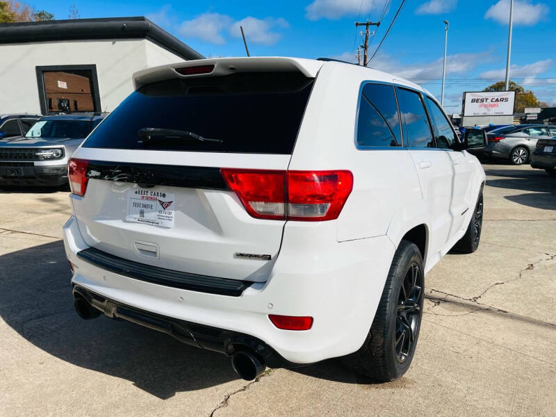
[(0, 114), (112, 111), (133, 72), (199, 58), (145, 17), (0, 24)]

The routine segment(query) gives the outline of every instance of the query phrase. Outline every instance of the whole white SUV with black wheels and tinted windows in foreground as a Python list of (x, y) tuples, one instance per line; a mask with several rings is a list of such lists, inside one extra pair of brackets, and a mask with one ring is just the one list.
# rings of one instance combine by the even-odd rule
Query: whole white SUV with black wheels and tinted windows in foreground
[(332, 60), (134, 74), (69, 162), (76, 311), (229, 355), (409, 368), (425, 273), (479, 244), (485, 175), (418, 85)]

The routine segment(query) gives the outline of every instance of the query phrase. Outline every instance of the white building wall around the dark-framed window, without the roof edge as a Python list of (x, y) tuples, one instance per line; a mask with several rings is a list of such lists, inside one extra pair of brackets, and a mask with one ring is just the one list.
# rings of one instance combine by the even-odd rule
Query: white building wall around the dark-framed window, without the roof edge
[(0, 45), (0, 114), (40, 114), (35, 67), (97, 65), (102, 111), (133, 91), (131, 74), (183, 60), (149, 40), (87, 40)]

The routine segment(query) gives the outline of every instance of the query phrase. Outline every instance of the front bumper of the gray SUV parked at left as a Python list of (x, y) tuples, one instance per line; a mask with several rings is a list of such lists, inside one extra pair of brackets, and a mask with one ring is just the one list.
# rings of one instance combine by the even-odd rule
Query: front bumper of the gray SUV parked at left
[(67, 165), (0, 164), (0, 185), (3, 186), (57, 187), (67, 183)]

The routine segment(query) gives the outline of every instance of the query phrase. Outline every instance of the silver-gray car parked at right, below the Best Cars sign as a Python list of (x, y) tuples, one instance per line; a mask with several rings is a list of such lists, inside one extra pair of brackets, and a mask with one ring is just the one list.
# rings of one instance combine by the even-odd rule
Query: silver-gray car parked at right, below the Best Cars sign
[(508, 159), (514, 165), (530, 161), (537, 140), (556, 135), (556, 126), (544, 124), (518, 124), (489, 131), (484, 149), (472, 151), (477, 156)]

